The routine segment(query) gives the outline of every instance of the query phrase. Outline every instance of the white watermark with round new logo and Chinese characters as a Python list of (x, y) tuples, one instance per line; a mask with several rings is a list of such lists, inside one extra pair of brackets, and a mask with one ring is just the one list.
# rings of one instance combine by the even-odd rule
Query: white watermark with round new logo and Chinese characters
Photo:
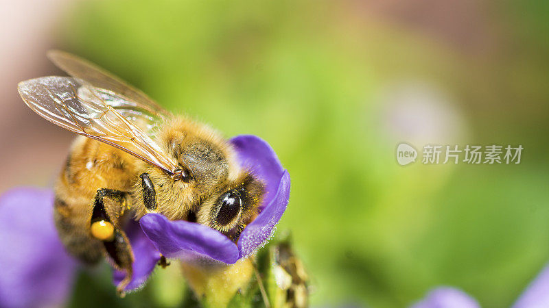
[[(522, 156), (522, 144), (507, 146), (491, 144), (488, 146), (470, 145), (458, 146), (458, 144), (436, 145), (425, 144), (421, 155), (421, 164), (520, 164)], [(397, 144), (397, 162), (406, 166), (416, 161), (418, 153), (413, 146), (406, 142)]]

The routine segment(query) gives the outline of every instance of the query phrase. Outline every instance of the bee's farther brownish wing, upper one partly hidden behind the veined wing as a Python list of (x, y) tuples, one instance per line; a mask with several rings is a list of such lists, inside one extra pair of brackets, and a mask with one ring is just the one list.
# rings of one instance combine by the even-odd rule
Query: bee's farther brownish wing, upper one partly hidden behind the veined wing
[[(124, 105), (113, 106), (119, 110), (139, 112), (159, 118), (172, 116), (170, 112), (158, 105), (147, 94), (81, 57), (55, 50), (49, 51), (47, 56), (58, 68), (65, 70), (67, 74), (75, 77), (75, 79), (82, 79), (84, 84), (104, 89), (105, 92), (111, 94), (117, 94), (124, 101)], [(124, 111), (121, 113), (124, 114)]]

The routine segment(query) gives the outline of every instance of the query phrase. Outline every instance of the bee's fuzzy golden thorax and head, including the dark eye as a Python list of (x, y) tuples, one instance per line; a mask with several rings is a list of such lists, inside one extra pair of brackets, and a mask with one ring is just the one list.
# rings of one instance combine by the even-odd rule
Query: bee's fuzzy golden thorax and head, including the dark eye
[[(226, 140), (204, 127), (189, 129), (188, 125), (180, 123), (161, 136), (166, 152), (181, 166), (180, 175), (145, 166), (156, 193), (154, 211), (170, 220), (205, 224), (233, 237), (237, 227), (257, 214), (264, 185), (240, 168)], [(147, 212), (142, 187), (142, 183), (135, 186), (138, 216)]]

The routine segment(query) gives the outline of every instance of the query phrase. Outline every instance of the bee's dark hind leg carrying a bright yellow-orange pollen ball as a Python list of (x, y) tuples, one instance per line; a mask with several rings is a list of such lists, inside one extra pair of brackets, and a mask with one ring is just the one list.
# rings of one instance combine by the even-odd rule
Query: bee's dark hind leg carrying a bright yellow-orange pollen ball
[(103, 242), (105, 251), (113, 260), (115, 268), (126, 271), (126, 277), (117, 285), (117, 292), (121, 296), (124, 296), (124, 288), (130, 283), (133, 274), (132, 264), (134, 257), (132, 246), (124, 230), (117, 226), (117, 221), (113, 222), (109, 217), (104, 205), (105, 197), (112, 198), (119, 203), (124, 203), (126, 201), (126, 194), (119, 190), (110, 190), (107, 188), (97, 190), (91, 216), (91, 233), (93, 237)]

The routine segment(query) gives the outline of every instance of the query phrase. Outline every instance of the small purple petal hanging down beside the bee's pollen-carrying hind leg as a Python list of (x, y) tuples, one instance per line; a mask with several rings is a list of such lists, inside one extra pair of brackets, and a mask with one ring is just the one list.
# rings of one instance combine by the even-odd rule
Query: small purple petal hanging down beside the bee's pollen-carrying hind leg
[[(125, 231), (132, 245), (134, 257), (132, 281), (125, 288), (126, 291), (130, 291), (138, 289), (147, 282), (150, 273), (154, 270), (154, 266), (156, 266), (161, 256), (145, 233), (143, 233), (138, 222), (130, 220)], [(126, 277), (126, 272), (115, 270), (113, 273), (113, 283), (118, 285), (124, 277)]]

